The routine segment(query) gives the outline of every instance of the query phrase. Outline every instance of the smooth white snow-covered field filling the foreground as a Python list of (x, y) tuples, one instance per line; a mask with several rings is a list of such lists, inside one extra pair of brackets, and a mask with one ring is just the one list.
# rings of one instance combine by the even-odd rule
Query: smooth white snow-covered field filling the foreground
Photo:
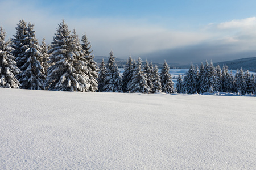
[(256, 97), (0, 96), (0, 169), (256, 169)]

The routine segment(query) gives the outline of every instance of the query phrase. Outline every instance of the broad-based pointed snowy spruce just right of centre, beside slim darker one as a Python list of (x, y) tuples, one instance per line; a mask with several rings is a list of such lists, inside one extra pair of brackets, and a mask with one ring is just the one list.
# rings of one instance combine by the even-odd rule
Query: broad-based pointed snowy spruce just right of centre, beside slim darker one
[(144, 93), (150, 92), (150, 87), (147, 84), (146, 73), (142, 70), (142, 60), (138, 57), (138, 62), (133, 69), (133, 76), (131, 78), (131, 84), (129, 91), (132, 93)]

